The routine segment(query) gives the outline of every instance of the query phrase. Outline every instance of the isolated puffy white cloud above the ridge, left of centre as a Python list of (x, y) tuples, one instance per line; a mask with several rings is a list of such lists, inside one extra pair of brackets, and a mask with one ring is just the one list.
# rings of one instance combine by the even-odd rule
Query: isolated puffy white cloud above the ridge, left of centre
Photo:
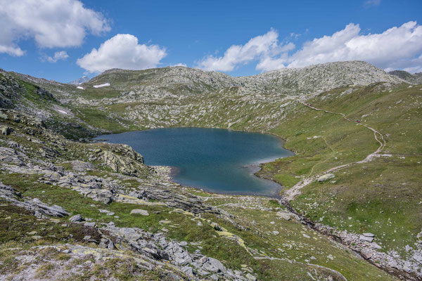
[(166, 55), (164, 47), (138, 44), (138, 39), (131, 34), (117, 34), (79, 58), (77, 65), (89, 72), (103, 72), (110, 68), (143, 70), (156, 67)]

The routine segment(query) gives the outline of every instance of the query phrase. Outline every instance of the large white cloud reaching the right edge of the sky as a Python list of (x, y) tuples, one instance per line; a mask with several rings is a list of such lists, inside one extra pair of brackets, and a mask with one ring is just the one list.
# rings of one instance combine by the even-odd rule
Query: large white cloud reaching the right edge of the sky
[(364, 60), (381, 68), (411, 67), (422, 53), (422, 26), (406, 22), (379, 34), (360, 34), (359, 25), (304, 44), (290, 57), (288, 67), (302, 67), (339, 60)]

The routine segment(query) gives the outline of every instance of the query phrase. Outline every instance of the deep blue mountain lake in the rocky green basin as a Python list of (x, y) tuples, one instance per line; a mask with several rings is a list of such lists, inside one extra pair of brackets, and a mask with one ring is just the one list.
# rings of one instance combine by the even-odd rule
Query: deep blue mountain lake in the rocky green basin
[(130, 145), (148, 165), (174, 167), (181, 185), (231, 194), (276, 195), (281, 186), (254, 173), (260, 163), (293, 155), (275, 136), (227, 129), (151, 129), (96, 139)]

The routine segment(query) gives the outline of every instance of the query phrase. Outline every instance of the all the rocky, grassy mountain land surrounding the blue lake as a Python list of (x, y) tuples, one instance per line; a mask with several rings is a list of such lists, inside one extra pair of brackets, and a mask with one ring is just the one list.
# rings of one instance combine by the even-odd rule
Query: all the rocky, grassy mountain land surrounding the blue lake
[[(404, 78), (364, 62), (78, 85), (0, 71), (0, 279), (418, 280), (422, 86)], [(258, 174), (286, 197), (183, 187), (89, 141), (165, 126), (280, 136), (296, 155)]]

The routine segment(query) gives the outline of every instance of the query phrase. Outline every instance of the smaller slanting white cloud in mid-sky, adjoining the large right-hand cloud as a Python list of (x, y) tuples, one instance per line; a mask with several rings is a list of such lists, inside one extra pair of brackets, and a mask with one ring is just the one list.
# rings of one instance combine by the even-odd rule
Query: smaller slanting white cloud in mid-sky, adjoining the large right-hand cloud
[(245, 45), (233, 45), (223, 56), (209, 55), (198, 62), (198, 67), (205, 70), (232, 71), (239, 65), (253, 60), (264, 60), (269, 56), (278, 55), (295, 48), (293, 43), (282, 46), (278, 41), (279, 33), (270, 30), (264, 35), (254, 37)]

